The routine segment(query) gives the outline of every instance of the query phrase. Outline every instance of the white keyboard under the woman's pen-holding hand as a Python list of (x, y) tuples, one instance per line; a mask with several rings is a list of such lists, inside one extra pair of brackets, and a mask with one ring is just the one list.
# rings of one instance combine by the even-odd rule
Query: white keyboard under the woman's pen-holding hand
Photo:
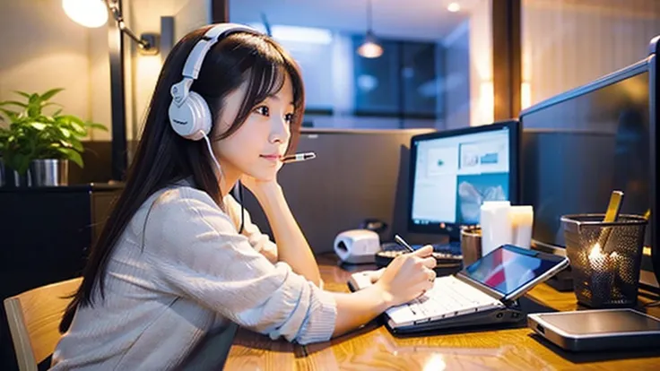
[(420, 324), (501, 307), (503, 304), (455, 276), (439, 277), (420, 298), (387, 310), (397, 325)]

